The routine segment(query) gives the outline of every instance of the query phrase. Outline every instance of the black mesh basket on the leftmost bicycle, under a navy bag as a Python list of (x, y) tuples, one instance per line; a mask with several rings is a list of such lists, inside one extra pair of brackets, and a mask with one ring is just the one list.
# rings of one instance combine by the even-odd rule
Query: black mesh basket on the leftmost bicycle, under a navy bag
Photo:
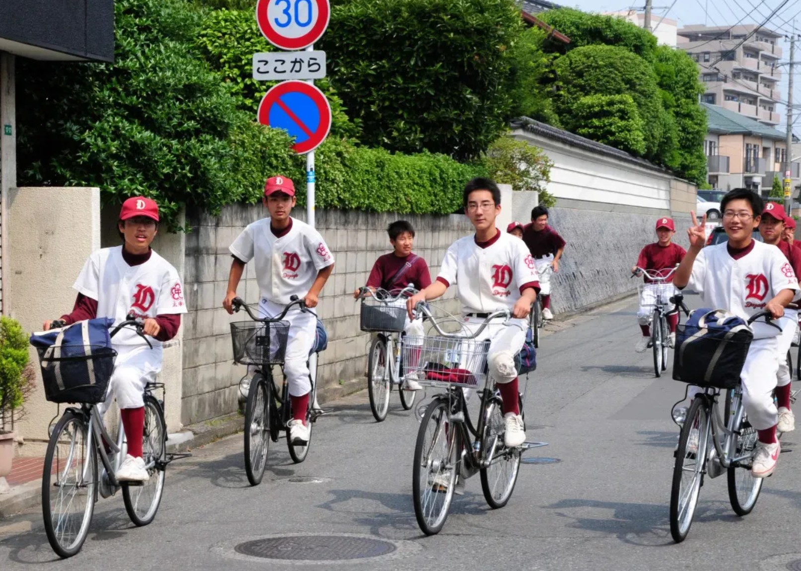
[(106, 400), (117, 352), (103, 345), (37, 348), (45, 399), (98, 404)]

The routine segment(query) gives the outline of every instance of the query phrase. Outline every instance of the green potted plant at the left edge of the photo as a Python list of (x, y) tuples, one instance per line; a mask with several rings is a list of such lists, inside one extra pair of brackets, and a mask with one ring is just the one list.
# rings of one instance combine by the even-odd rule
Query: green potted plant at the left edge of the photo
[(0, 493), (8, 489), (6, 476), (14, 457), (14, 420), (33, 388), (34, 372), (28, 363), (28, 336), (17, 320), (0, 317)]

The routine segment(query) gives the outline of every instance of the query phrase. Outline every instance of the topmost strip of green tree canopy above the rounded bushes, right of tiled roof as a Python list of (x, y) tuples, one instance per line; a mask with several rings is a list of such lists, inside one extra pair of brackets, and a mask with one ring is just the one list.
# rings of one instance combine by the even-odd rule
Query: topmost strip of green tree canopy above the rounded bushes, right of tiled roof
[(650, 62), (657, 50), (654, 35), (625, 18), (589, 14), (573, 8), (548, 10), (538, 18), (570, 38), (569, 44), (549, 38), (545, 42), (545, 51), (565, 54), (578, 47), (606, 44), (630, 51)]

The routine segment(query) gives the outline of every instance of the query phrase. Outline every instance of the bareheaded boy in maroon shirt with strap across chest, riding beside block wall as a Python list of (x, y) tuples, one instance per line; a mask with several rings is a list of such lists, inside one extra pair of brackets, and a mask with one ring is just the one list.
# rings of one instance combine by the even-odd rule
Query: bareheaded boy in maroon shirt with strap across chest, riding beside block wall
[[(396, 220), (387, 228), (387, 234), (389, 243), (392, 244), (392, 252), (376, 259), (365, 287), (371, 292), (376, 292), (379, 288), (385, 292), (401, 292), (409, 285), (421, 290), (428, 288), (431, 285), (429, 266), (425, 263), (425, 259), (412, 253), (414, 245), (412, 225), (405, 220)], [(353, 297), (356, 299), (360, 295), (361, 288), (353, 292)], [(406, 302), (400, 300), (399, 303), (405, 305)], [(422, 337), (425, 334), (422, 318), (412, 320), (407, 317), (404, 332), (415, 339)], [(405, 384), (409, 391), (419, 391), (422, 388), (417, 380), (409, 378), (405, 380)]]

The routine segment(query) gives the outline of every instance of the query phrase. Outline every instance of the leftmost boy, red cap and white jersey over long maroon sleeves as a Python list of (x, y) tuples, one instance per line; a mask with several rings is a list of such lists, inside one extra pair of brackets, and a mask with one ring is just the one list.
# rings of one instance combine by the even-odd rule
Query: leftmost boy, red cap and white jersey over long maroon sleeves
[[(159, 206), (137, 196), (127, 199), (119, 213), (117, 228), (123, 245), (107, 247), (89, 256), (75, 281), (75, 306), (58, 321), (65, 325), (97, 317), (110, 317), (122, 323), (129, 314), (144, 319), (147, 342), (135, 332), (123, 329), (113, 338), (117, 352), (114, 374), (109, 382), (105, 412), (117, 397), (128, 452), (116, 472), (117, 481), (144, 482), (149, 479), (142, 459), (145, 424), (143, 394), (148, 382), (161, 371), (162, 343), (171, 340), (181, 325), (180, 314), (187, 312), (183, 288), (175, 267), (150, 247), (159, 231)], [(50, 329), (54, 321), (44, 323)], [(55, 323), (57, 324), (57, 323)]]

